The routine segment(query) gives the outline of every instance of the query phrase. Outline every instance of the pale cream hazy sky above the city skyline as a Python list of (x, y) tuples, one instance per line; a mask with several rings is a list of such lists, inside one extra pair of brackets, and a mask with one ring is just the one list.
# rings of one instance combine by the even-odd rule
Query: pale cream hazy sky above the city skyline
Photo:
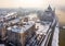
[(64, 7), (65, 0), (0, 0), (0, 8), (47, 8)]

